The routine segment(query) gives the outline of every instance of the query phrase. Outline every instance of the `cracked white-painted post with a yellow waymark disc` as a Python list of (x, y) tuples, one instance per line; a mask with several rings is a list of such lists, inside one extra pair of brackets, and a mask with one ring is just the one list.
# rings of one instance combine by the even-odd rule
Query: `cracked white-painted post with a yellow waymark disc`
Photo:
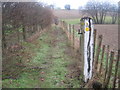
[(94, 35), (93, 35), (93, 24), (92, 19), (85, 17), (82, 18), (83, 29), (84, 29), (84, 80), (87, 82), (92, 78), (93, 68), (93, 52), (94, 52)]

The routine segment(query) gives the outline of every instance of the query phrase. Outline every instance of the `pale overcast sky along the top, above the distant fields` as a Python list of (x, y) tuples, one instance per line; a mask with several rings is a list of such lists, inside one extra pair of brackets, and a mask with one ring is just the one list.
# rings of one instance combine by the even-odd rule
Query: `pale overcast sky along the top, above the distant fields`
[[(78, 9), (79, 6), (84, 6), (89, 0), (38, 0), (46, 4), (53, 4), (56, 7), (64, 8), (65, 4), (70, 4), (72, 9)], [(109, 1), (111, 3), (117, 4), (120, 0), (99, 0), (99, 1)]]

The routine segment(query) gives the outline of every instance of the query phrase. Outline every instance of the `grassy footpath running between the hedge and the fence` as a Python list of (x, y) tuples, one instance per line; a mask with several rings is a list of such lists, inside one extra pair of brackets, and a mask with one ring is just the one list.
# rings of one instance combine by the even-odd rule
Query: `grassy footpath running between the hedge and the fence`
[(34, 43), (24, 45), (27, 46), (24, 52), (33, 52), (34, 56), (22, 60), (25, 65), (22, 73), (16, 79), (4, 79), (3, 88), (80, 87), (81, 82), (77, 77), (67, 76), (71, 72), (68, 66), (76, 62), (76, 58), (66, 53), (70, 45), (60, 28), (49, 30)]

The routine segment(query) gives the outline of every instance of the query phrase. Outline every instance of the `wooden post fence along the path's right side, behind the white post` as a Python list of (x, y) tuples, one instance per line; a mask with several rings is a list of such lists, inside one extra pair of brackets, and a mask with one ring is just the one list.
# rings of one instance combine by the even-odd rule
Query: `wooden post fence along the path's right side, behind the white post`
[[(83, 60), (83, 37), (76, 37), (77, 31), (74, 25), (67, 24), (65, 21), (60, 21), (60, 27), (66, 32), (68, 40), (71, 42), (71, 47), (75, 51), (79, 51), (81, 62)], [(102, 45), (103, 36), (98, 35), (97, 30), (94, 29), (94, 61), (93, 61), (93, 76), (94, 81), (99, 81), (103, 88), (120, 88), (120, 50), (110, 51), (109, 45)], [(82, 48), (81, 48), (82, 47)], [(84, 66), (82, 66), (84, 67)], [(82, 68), (84, 70), (84, 68)], [(89, 80), (91, 81), (91, 80)], [(89, 83), (89, 82), (88, 82)]]

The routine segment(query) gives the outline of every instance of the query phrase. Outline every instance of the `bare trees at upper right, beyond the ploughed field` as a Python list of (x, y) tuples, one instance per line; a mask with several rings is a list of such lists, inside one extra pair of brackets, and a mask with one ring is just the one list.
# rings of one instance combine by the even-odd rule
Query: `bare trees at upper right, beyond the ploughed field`
[(108, 13), (112, 17), (113, 24), (117, 20), (117, 7), (109, 2), (89, 1), (82, 12), (91, 16), (96, 24), (105, 23)]

